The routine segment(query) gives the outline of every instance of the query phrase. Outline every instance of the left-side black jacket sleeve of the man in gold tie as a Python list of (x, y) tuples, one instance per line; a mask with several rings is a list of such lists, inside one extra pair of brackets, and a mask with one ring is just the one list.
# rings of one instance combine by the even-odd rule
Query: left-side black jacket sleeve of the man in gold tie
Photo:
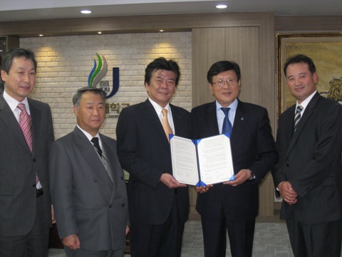
[[(148, 151), (148, 142), (145, 142), (147, 138), (142, 138), (144, 137), (142, 131), (146, 128), (142, 128), (144, 125), (138, 123), (139, 121), (132, 110), (126, 108), (121, 111), (116, 126), (118, 157), (121, 166), (130, 175), (138, 178), (147, 186), (155, 188), (160, 181), (162, 171), (152, 169), (146, 158), (142, 158), (142, 156), (146, 155), (142, 151)], [(146, 146), (146, 148), (143, 146)]]

